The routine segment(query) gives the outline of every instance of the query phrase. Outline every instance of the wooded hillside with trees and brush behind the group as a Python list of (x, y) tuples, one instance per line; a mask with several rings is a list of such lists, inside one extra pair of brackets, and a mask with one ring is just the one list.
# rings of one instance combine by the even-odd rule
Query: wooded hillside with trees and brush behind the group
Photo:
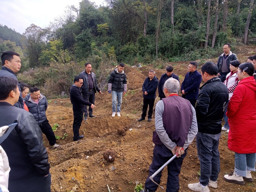
[(68, 6), (46, 28), (31, 24), (23, 33), (0, 24), (0, 54), (15, 51), (18, 79), (37, 86), (48, 98), (68, 97), (75, 75), (92, 63), (100, 89), (111, 69), (216, 58), (224, 44), (256, 43), (254, 0), (88, 0)]

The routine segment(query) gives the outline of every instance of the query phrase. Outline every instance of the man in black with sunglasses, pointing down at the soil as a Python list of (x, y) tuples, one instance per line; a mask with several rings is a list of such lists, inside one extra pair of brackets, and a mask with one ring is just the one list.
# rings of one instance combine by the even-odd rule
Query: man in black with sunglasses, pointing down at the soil
[(80, 87), (82, 87), (82, 84), (83, 84), (83, 77), (75, 76), (74, 84), (70, 88), (70, 101), (73, 105), (73, 114), (74, 114), (73, 141), (79, 141), (80, 139), (84, 138), (84, 135), (79, 135), (79, 129), (83, 121), (84, 105), (88, 105), (91, 108), (95, 108), (95, 105), (83, 99), (80, 92)]

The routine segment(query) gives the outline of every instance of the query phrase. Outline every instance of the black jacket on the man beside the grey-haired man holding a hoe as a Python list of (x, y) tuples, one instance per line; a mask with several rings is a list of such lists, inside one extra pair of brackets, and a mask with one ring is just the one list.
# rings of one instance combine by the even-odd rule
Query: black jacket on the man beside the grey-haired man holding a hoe
[(221, 132), (221, 122), (228, 102), (228, 88), (218, 77), (200, 87), (196, 119), (198, 132), (216, 135)]

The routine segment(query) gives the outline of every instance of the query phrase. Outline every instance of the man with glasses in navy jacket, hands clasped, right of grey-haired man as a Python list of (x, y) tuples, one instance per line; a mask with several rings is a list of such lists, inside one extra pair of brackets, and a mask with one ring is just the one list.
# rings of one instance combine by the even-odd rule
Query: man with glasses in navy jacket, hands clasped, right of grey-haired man
[(189, 100), (191, 105), (196, 107), (199, 87), (202, 82), (201, 74), (196, 70), (197, 62), (191, 61), (188, 65), (188, 73), (181, 84), (182, 97)]

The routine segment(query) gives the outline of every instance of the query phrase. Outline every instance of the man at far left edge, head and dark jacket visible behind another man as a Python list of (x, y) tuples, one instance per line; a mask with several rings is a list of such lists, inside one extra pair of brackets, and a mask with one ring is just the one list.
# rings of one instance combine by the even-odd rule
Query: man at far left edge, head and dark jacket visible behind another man
[[(13, 51), (6, 51), (1, 55), (1, 61), (3, 67), (0, 70), (0, 76), (7, 76), (17, 79), (16, 73), (20, 71), (20, 55)], [(20, 90), (20, 84), (18, 83)], [(24, 109), (22, 92), (20, 90), (20, 97), (17, 103), (14, 104), (15, 107)]]

